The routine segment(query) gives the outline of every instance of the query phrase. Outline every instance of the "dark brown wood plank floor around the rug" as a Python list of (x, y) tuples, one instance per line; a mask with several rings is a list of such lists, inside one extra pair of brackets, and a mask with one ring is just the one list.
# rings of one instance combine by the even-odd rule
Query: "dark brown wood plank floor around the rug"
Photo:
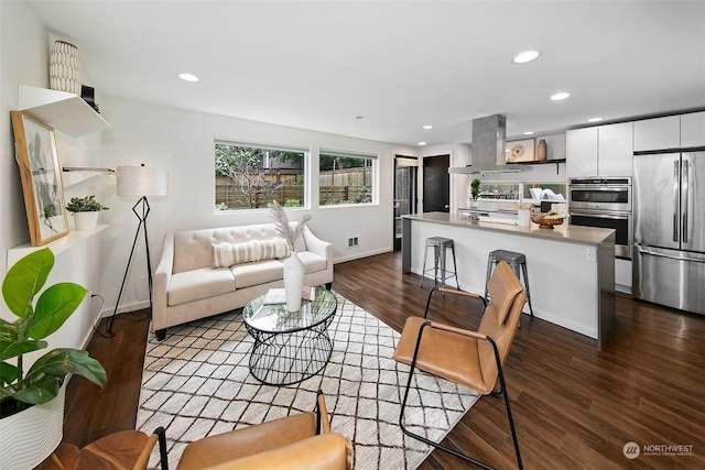
[[(333, 288), (401, 330), (408, 316), (423, 314), (430, 283), (420, 288), (419, 276), (400, 271), (398, 252), (340, 263)], [(560, 282), (555, 288), (561, 288)], [(432, 315), (438, 320), (467, 328), (479, 323), (478, 306), (471, 302), (446, 296), (435, 306)], [(121, 315), (115, 337), (94, 336), (88, 349), (108, 371), (108, 384), (100, 390), (82, 379), (70, 382), (65, 441), (82, 446), (134, 428), (148, 332), (144, 317)], [(506, 378), (528, 469), (705, 468), (703, 316), (618, 294), (615, 325), (597, 351), (594, 340), (524, 315)], [(492, 467), (516, 467), (498, 397), (480, 398), (447, 441)], [(629, 441), (692, 446), (692, 455), (628, 460), (622, 448)], [(435, 451), (421, 468), (465, 467)]]

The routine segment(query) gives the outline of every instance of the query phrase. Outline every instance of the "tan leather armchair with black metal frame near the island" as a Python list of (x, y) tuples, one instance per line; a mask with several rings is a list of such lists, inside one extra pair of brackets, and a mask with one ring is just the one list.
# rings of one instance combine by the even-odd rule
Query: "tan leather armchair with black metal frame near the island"
[[(411, 433), (404, 427), (404, 409), (411, 389), (411, 381), (415, 369), (442, 376), (457, 384), (473, 389), (482, 395), (505, 395), (505, 405), (509, 427), (514, 442), (517, 462), (522, 468), (519, 441), (509, 405), (509, 396), (505, 384), (502, 364), (509, 353), (521, 309), (527, 298), (525, 291), (511, 267), (500, 262), (488, 283), (490, 303), (486, 306), (477, 331), (456, 328), (427, 319), (429, 306), (434, 292), (444, 294), (459, 294), (471, 297), (479, 295), (449, 288), (434, 288), (429, 294), (424, 318), (410, 317), (406, 319), (393, 359), (411, 365), (409, 381), (401, 405), (399, 425), (404, 434), (449, 452), (468, 462), (489, 468), (454, 449), (434, 442), (423, 436)], [(499, 389), (497, 389), (499, 386)]]

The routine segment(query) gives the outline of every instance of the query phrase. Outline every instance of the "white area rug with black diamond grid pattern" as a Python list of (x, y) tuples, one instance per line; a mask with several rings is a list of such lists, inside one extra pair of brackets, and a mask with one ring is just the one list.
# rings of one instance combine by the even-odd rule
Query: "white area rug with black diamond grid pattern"
[[(250, 374), (252, 338), (239, 310), (170, 328), (164, 341), (150, 334), (137, 428), (166, 428), (170, 468), (191, 441), (313, 409), (318, 389), (333, 430), (355, 445), (356, 469), (414, 469), (423, 462), (433, 449), (398, 425), (409, 371), (391, 359), (399, 334), (336, 295), (330, 361), (296, 385), (263, 385)], [(414, 376), (421, 392), (410, 394), (405, 424), (441, 440), (478, 395), (427, 374)], [(154, 451), (151, 466), (158, 462)]]

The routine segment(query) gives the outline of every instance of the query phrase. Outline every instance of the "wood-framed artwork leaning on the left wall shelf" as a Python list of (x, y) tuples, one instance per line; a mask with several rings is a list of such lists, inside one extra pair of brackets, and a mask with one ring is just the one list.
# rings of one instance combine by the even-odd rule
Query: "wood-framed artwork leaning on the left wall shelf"
[(54, 129), (21, 111), (10, 111), (15, 160), (33, 247), (68, 233)]

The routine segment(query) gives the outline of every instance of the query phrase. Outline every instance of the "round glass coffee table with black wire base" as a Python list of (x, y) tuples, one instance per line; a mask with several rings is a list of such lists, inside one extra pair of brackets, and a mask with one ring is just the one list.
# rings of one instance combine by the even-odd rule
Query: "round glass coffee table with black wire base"
[(335, 295), (323, 287), (294, 313), (275, 295), (251, 300), (242, 309), (245, 327), (254, 338), (250, 373), (269, 385), (290, 385), (321, 372), (333, 352), (328, 325), (337, 308)]

